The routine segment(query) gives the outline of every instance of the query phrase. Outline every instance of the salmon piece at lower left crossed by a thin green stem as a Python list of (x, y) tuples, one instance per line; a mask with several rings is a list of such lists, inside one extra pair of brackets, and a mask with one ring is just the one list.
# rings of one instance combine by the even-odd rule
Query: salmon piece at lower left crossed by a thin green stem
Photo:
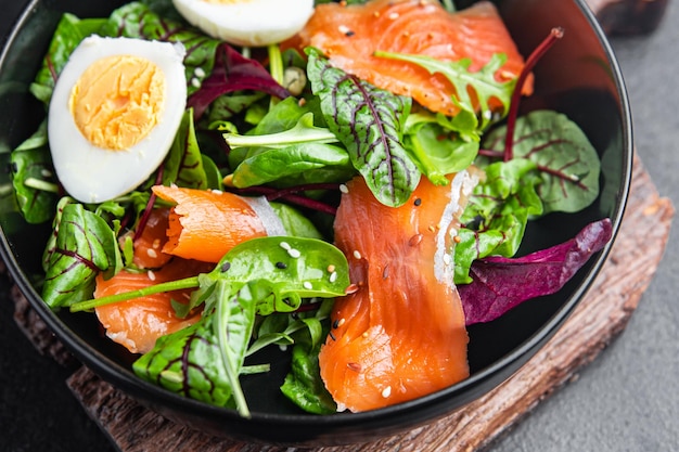
[[(175, 258), (157, 271), (119, 271), (110, 280), (97, 276), (94, 298), (137, 290), (162, 282), (195, 276), (212, 270), (205, 262)], [(194, 312), (185, 319), (175, 313), (171, 300), (188, 302), (191, 289), (174, 290), (95, 308), (97, 317), (106, 330), (106, 336), (123, 345), (132, 353), (150, 351), (158, 337), (182, 330), (198, 321), (201, 313)]]

